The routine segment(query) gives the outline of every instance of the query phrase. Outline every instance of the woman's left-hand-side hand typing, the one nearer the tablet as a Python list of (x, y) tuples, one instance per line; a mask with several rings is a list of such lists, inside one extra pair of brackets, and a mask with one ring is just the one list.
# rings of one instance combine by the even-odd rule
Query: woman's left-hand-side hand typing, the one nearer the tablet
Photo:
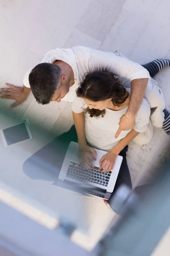
[(93, 157), (93, 155), (97, 157), (96, 150), (94, 148), (89, 147), (88, 145), (79, 145), (79, 161), (82, 164), (85, 164), (89, 168), (94, 168), (94, 165), (91, 163), (91, 161), (95, 161), (96, 158)]

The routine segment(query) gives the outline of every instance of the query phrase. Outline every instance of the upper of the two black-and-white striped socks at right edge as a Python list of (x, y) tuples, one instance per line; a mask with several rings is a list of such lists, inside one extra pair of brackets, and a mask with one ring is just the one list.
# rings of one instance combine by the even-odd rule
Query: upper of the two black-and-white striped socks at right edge
[(159, 71), (170, 66), (170, 60), (160, 58), (141, 66), (145, 67), (145, 69), (149, 71), (150, 76), (153, 78), (157, 73), (159, 73)]

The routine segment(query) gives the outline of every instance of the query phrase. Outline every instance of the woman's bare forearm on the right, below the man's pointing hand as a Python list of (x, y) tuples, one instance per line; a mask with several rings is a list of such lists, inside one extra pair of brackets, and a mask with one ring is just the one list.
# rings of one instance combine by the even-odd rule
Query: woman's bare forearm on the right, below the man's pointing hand
[(139, 132), (132, 129), (126, 135), (125, 138), (120, 140), (119, 143), (117, 143), (117, 145), (113, 149), (111, 149), (111, 151), (118, 155), (120, 153), (120, 151), (122, 151), (122, 149), (125, 148), (125, 146), (128, 145), (130, 143), (130, 141), (132, 141), (138, 134), (139, 134)]

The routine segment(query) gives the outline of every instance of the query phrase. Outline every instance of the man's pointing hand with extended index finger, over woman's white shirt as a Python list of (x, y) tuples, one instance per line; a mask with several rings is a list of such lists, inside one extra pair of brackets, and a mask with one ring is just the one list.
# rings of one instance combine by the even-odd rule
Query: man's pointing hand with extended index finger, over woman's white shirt
[(120, 118), (119, 129), (116, 131), (115, 139), (118, 138), (121, 131), (128, 131), (133, 129), (135, 125), (135, 116), (133, 114), (125, 113)]

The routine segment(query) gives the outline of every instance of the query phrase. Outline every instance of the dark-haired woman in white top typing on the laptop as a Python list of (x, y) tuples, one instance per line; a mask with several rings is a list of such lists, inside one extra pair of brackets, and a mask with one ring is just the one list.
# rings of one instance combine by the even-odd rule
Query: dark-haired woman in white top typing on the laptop
[(94, 148), (99, 148), (108, 151), (100, 160), (99, 169), (109, 172), (113, 169), (117, 155), (123, 156), (115, 189), (121, 183), (132, 186), (126, 161), (128, 143), (133, 140), (145, 144), (153, 135), (150, 105), (143, 99), (134, 128), (122, 131), (115, 138), (119, 119), (126, 113), (129, 102), (130, 89), (125, 89), (113, 74), (97, 71), (86, 75), (77, 89), (77, 98), (72, 103), (82, 163), (93, 167), (91, 161), (96, 156)]

